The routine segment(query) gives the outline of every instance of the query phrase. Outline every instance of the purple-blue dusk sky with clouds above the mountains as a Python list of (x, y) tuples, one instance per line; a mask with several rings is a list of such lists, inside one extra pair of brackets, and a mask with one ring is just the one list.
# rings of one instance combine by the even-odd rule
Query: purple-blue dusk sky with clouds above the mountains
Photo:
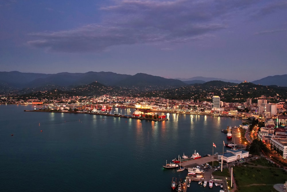
[(286, 0), (0, 0), (0, 71), (287, 74)]

